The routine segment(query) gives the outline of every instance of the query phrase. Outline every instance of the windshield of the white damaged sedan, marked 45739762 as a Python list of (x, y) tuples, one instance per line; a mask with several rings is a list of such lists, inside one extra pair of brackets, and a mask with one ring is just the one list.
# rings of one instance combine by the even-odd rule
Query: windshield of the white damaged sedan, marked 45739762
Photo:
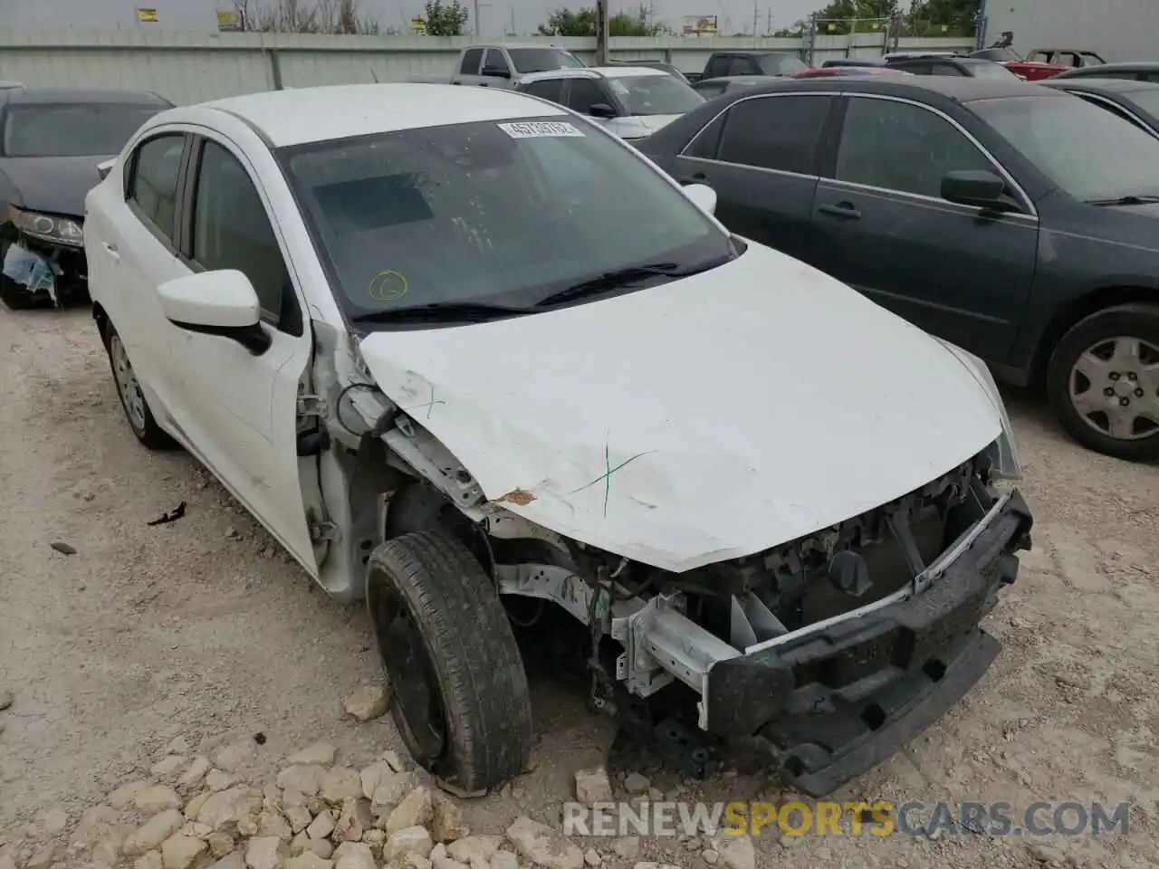
[(280, 149), (352, 316), (416, 305), (524, 307), (619, 269), (695, 270), (732, 256), (729, 236), (665, 176), (567, 117)]

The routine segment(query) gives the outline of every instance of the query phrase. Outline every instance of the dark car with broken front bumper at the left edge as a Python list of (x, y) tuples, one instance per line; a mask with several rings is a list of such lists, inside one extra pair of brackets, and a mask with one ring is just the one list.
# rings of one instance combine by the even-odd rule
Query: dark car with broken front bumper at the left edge
[(140, 90), (0, 89), (0, 300), (59, 304), (87, 292), (85, 195), (97, 166), (153, 115)]

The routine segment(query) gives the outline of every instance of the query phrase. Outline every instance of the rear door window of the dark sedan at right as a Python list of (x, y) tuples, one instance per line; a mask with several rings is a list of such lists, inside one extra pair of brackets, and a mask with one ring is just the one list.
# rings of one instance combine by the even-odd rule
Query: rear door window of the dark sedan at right
[(829, 105), (830, 97), (823, 95), (742, 100), (728, 110), (717, 159), (812, 175)]

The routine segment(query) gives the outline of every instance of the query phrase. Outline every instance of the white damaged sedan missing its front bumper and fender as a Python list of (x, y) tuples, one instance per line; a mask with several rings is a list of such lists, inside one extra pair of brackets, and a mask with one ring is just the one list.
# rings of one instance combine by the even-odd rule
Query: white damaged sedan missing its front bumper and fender
[(567, 109), (433, 85), (173, 109), (88, 195), (133, 432), (366, 600), (452, 789), (527, 766), (527, 653), (693, 774), (739, 746), (816, 796), (998, 653), (1032, 517), (985, 366), (714, 202)]

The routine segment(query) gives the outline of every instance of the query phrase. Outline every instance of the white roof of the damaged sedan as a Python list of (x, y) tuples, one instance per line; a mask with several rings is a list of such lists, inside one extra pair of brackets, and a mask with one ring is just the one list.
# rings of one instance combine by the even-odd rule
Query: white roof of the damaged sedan
[[(202, 103), (255, 127), (272, 147), (348, 139), (417, 127), (568, 112), (553, 103), (504, 88), (453, 85), (331, 85), (268, 90)], [(166, 112), (174, 122), (183, 110)]]

